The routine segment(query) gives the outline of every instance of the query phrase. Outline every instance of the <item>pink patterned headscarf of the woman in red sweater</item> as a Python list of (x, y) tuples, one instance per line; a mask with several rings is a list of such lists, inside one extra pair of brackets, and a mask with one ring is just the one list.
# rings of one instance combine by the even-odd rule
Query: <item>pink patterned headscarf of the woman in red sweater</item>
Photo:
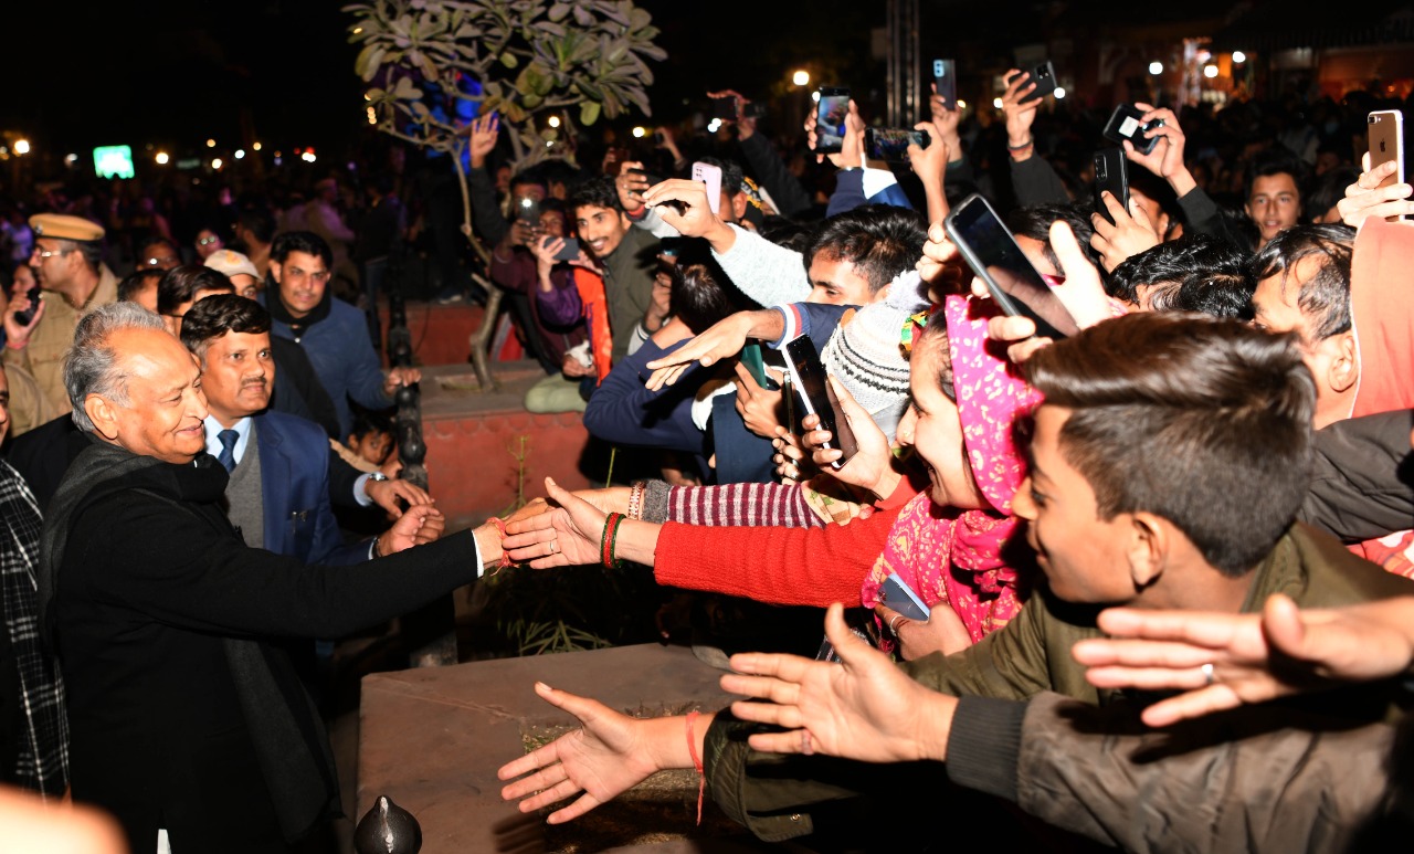
[(1001, 549), (1017, 529), (1011, 498), (1027, 476), (1012, 427), (1017, 416), (1041, 403), (1041, 394), (987, 339), (991, 301), (953, 296), (943, 311), (967, 462), (991, 509), (939, 508), (928, 492), (919, 493), (894, 522), (863, 598), (867, 607), (877, 605), (880, 585), (896, 573), (930, 608), (947, 604), (976, 643), (1021, 611), (1017, 570), (1005, 564)]

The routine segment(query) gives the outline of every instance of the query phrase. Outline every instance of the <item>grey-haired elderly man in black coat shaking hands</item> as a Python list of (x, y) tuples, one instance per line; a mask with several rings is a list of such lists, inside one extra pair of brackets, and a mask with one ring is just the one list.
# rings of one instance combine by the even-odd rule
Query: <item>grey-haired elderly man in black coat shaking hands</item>
[(197, 361), (132, 304), (79, 324), (65, 361), (88, 447), (49, 508), (45, 631), (69, 689), (75, 800), (117, 816), (133, 851), (286, 851), (338, 812), (328, 739), (284, 653), (475, 581), (493, 527), (437, 537), (410, 508), (352, 567), (249, 549), (205, 452)]

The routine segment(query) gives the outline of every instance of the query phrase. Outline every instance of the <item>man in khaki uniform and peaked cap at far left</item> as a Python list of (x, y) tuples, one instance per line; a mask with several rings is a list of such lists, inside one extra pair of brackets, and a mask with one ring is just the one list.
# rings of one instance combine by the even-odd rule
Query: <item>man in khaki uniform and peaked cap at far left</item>
[[(64, 389), (64, 352), (74, 344), (79, 318), (117, 301), (117, 276), (102, 262), (102, 226), (79, 216), (37, 214), (30, 228), (30, 267), (42, 293), (37, 304), (27, 294), (10, 300), (4, 312), (4, 363), (30, 372), (55, 414), (64, 414), (71, 409)], [(31, 308), (33, 317), (20, 322)]]

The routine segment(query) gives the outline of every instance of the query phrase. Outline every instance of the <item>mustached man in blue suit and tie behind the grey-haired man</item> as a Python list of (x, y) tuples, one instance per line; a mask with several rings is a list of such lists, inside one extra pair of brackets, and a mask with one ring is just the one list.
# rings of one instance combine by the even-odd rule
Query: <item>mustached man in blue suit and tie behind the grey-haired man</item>
[(276, 366), (264, 307), (235, 294), (206, 297), (182, 318), (181, 341), (201, 361), (206, 452), (230, 475), (230, 522), (246, 544), (305, 563), (372, 557), (370, 543), (344, 546), (339, 537), (324, 431), (267, 409)]

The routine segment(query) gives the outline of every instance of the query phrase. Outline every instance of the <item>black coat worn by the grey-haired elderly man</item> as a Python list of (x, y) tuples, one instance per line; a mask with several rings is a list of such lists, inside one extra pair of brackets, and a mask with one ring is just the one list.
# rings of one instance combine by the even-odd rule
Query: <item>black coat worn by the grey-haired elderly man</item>
[[(228, 639), (256, 642), (263, 700), (274, 698), (264, 704), (293, 724), (290, 748), (328, 768), (318, 715), (267, 640), (337, 638), (477, 578), (469, 533), (334, 568), (247, 549), (222, 512), (225, 485), (202, 455), (95, 488), (74, 510), (52, 583), (74, 797), (117, 816), (133, 851), (153, 850), (158, 827), (178, 851), (286, 848), (257, 756), (270, 728), (257, 732), (242, 711), (249, 680), (233, 673)], [(314, 810), (311, 827), (322, 817)]]

